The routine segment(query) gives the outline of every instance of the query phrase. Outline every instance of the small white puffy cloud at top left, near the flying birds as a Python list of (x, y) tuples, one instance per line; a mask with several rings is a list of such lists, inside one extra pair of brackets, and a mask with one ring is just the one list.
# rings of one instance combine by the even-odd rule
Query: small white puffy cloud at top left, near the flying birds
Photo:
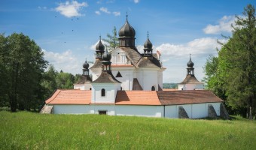
[(87, 7), (87, 2), (79, 3), (78, 1), (66, 1), (66, 3), (59, 3), (59, 6), (55, 10), (65, 17), (78, 17), (81, 16), (79, 11), (82, 7)]

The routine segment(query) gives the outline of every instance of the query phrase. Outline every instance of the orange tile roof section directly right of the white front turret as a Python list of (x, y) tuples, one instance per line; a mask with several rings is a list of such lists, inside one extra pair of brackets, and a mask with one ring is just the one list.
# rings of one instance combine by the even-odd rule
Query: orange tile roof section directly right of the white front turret
[(118, 91), (116, 105), (161, 105), (156, 91)]

